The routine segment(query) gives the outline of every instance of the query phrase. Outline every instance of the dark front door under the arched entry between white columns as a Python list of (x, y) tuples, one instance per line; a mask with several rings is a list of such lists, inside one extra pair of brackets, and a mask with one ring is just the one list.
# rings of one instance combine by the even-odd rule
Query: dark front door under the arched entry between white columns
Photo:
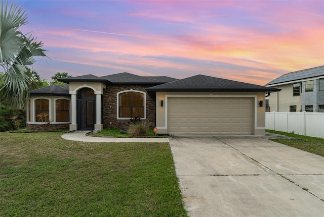
[(79, 99), (78, 108), (78, 130), (93, 130), (95, 126), (96, 101), (93, 99)]

